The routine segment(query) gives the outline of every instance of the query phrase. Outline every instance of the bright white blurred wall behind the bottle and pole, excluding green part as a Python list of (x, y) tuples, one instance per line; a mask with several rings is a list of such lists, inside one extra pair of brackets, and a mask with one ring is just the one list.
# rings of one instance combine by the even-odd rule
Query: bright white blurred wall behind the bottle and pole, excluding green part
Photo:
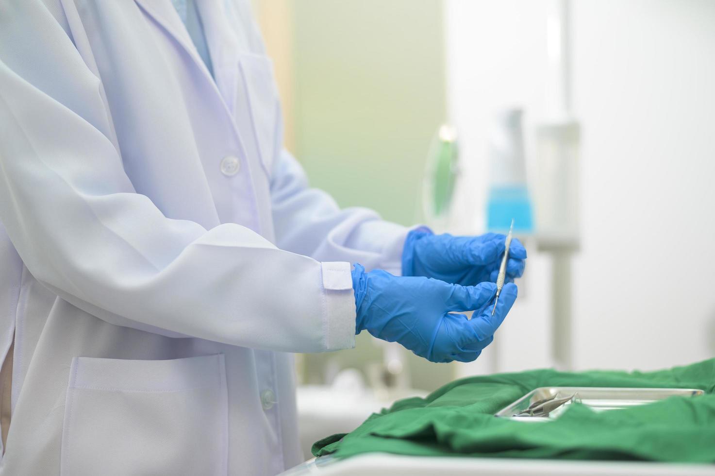
[[(533, 129), (546, 117), (547, 6), (447, 3), (450, 117), (474, 190), (488, 185), (490, 114), (506, 105), (526, 111), (534, 178)], [(576, 369), (656, 369), (715, 355), (714, 57), (715, 2), (571, 2), (572, 102), (582, 127)], [(500, 371), (550, 364), (550, 263), (533, 248), (527, 296), (491, 349)]]

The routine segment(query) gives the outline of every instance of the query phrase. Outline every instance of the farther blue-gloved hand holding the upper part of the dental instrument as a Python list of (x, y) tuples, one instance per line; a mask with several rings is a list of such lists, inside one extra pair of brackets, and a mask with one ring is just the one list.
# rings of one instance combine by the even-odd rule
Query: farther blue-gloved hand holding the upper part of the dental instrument
[[(480, 236), (434, 235), (426, 228), (408, 233), (403, 249), (403, 276), (427, 276), (448, 283), (474, 286), (495, 282), (504, 253), (506, 235), (486, 233)], [(505, 283), (524, 273), (526, 248), (513, 238), (506, 262)]]

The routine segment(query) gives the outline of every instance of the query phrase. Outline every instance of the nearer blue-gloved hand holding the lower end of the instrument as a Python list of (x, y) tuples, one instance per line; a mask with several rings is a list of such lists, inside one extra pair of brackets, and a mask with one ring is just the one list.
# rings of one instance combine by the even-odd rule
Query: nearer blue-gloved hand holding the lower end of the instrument
[[(502, 288), (491, 315), (495, 283), (460, 286), (423, 276), (405, 277), (355, 263), (355, 334), (368, 329), (433, 362), (470, 362), (490, 344), (494, 332), (516, 300), (516, 285)], [(475, 311), (472, 319), (453, 311)]]

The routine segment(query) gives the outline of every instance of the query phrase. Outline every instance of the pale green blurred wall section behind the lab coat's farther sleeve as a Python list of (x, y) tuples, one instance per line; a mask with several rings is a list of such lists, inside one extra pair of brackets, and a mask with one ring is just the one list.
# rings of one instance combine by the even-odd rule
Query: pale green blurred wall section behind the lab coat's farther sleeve
[(425, 155), (445, 118), (442, 2), (300, 0), (296, 153), (345, 207), (409, 225)]

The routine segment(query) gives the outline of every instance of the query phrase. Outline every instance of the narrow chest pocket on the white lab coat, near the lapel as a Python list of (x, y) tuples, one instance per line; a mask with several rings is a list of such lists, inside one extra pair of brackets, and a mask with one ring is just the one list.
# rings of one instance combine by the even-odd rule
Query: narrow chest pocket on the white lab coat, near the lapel
[(270, 178), (275, 155), (282, 141), (280, 101), (273, 80), (273, 63), (258, 54), (242, 54), (239, 59), (246, 110), (250, 111), (252, 135), (262, 167)]

